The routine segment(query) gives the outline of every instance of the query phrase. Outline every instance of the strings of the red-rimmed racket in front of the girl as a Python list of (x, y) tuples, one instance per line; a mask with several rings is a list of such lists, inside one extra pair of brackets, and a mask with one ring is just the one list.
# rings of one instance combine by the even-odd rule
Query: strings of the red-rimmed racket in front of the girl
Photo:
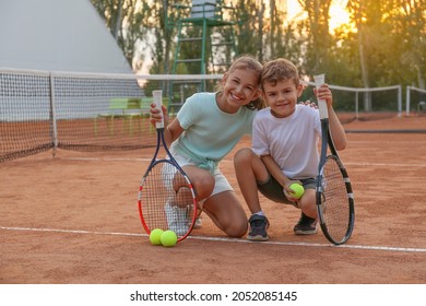
[(143, 222), (150, 231), (171, 229), (186, 236), (194, 221), (194, 200), (191, 185), (168, 163), (159, 162), (142, 180), (140, 202)]

